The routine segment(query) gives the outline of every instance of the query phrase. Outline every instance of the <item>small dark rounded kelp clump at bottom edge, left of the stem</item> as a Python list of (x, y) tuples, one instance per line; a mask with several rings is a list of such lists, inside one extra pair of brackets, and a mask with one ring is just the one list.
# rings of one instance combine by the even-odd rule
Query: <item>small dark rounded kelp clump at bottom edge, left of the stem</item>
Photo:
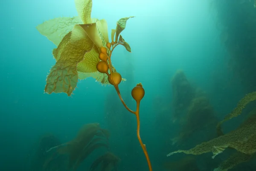
[(90, 167), (90, 171), (96, 171), (97, 168), (101, 168), (101, 171), (113, 171), (117, 170), (117, 166), (120, 159), (113, 153), (106, 153), (96, 159)]

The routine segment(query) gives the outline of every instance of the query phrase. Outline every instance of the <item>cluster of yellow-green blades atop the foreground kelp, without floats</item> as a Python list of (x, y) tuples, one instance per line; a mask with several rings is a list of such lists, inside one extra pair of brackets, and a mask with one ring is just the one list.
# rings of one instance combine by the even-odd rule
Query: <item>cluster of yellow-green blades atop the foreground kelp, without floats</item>
[[(63, 92), (71, 96), (78, 78), (93, 77), (101, 84), (109, 84), (106, 74), (96, 69), (100, 61), (99, 48), (107, 47), (106, 43), (109, 42), (108, 24), (105, 19), (91, 18), (92, 0), (75, 0), (75, 5), (79, 17), (55, 18), (37, 26), (42, 35), (58, 46), (52, 51), (57, 62), (47, 76), (45, 92), (48, 94)], [(125, 29), (129, 18), (131, 17), (122, 18), (117, 22), (117, 37)], [(78, 26), (83, 29), (84, 35), (74, 36), (74, 33), (78, 32)], [(87, 42), (83, 41), (85, 37)], [(83, 44), (86, 46), (82, 46)], [(120, 40), (119, 44), (131, 52), (131, 47), (124, 39)], [(110, 49), (107, 48), (107, 51), (109, 54)]]

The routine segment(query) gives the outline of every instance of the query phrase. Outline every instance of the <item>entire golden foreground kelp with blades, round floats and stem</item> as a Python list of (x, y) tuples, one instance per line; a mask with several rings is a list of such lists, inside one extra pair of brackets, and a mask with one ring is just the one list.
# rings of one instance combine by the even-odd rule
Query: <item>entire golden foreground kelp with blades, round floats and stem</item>
[(105, 85), (112, 84), (122, 104), (136, 116), (137, 138), (147, 159), (149, 170), (152, 171), (148, 152), (140, 138), (139, 109), (145, 91), (141, 83), (133, 88), (131, 95), (137, 103), (137, 109), (136, 111), (129, 109), (118, 87), (118, 84), (125, 79), (116, 72), (111, 61), (113, 49), (119, 44), (131, 52), (131, 47), (120, 33), (125, 29), (127, 20), (132, 17), (121, 18), (117, 21), (116, 29), (111, 31), (110, 43), (106, 20), (91, 18), (92, 0), (75, 0), (75, 5), (79, 17), (55, 18), (37, 26), (42, 35), (58, 46), (52, 51), (56, 64), (47, 76), (45, 92), (48, 94), (64, 92), (71, 96), (78, 79), (87, 77), (96, 78)]

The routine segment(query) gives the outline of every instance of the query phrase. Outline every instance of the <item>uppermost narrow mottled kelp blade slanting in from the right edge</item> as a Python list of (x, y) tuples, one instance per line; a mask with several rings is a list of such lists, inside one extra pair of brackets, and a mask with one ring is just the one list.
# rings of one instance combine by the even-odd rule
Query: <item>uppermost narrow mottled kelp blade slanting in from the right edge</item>
[(223, 122), (226, 122), (227, 120), (232, 119), (233, 117), (239, 116), (242, 113), (242, 110), (244, 109), (244, 107), (248, 103), (250, 103), (251, 101), (254, 101), (254, 100), (256, 100), (256, 91), (244, 96), (244, 98), (242, 98), (238, 102), (236, 108), (231, 113), (229, 113), (227, 116), (225, 116), (225, 118), (221, 122), (218, 123), (217, 129), (219, 129), (219, 127), (221, 126), (221, 124)]

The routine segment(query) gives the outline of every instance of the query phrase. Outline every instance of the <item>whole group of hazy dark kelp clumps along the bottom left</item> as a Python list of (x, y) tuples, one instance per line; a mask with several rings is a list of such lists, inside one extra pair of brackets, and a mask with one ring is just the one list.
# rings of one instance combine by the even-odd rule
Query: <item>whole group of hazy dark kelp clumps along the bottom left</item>
[(108, 130), (102, 129), (98, 123), (84, 125), (77, 136), (66, 143), (56, 145), (55, 136), (44, 136), (33, 157), (33, 171), (76, 171), (81, 163), (97, 149), (104, 154), (94, 160), (91, 171), (102, 165), (103, 171), (117, 169), (120, 159), (112, 154), (108, 144)]

